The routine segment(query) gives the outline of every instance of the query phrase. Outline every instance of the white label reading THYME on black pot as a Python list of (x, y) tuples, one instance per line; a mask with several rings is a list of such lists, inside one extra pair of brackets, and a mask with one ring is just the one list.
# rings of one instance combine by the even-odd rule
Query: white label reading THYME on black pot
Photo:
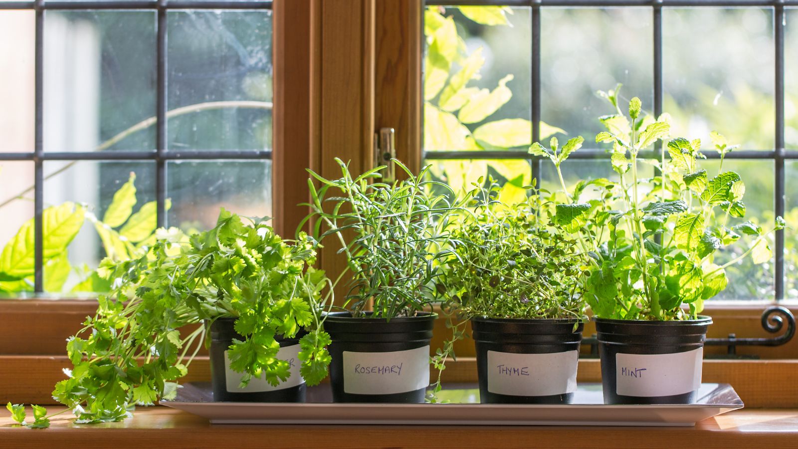
[(579, 351), (516, 354), (488, 351), (488, 391), (498, 395), (548, 396), (576, 391)]

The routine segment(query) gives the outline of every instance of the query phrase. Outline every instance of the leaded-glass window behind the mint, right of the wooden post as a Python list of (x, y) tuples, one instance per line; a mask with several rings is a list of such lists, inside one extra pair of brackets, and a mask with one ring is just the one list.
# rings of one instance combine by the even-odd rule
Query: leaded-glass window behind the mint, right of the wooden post
[[(747, 181), (749, 216), (798, 225), (798, 10), (792, 2), (679, 0), (425, 2), (424, 158), (453, 187), (492, 175), (505, 198), (555, 173), (525, 151), (549, 136), (585, 137), (566, 163), (575, 183), (606, 176), (606, 149), (591, 143), (612, 113), (594, 93), (621, 83), (672, 135), (696, 138), (717, 166), (709, 132), (741, 145), (725, 168)], [(786, 5), (786, 6), (785, 6)], [(469, 103), (470, 98), (470, 103)], [(566, 134), (567, 133), (567, 134)], [(651, 173), (653, 173), (653, 169)], [(725, 300), (798, 298), (796, 237), (777, 232), (775, 255), (733, 265)], [(726, 260), (733, 254), (725, 254)]]

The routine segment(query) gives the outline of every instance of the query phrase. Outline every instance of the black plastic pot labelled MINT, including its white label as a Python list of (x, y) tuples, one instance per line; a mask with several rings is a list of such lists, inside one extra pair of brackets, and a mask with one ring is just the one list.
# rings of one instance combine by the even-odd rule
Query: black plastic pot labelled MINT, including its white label
[(694, 403), (709, 324), (597, 318), (604, 403)]

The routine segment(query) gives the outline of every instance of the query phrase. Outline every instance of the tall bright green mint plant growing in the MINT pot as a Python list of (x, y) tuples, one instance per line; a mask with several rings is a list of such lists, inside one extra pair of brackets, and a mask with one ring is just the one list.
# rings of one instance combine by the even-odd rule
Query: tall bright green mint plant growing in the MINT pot
[[(656, 120), (644, 116), (640, 99), (634, 97), (627, 116), (621, 112), (618, 89), (602, 96), (615, 113), (599, 118), (606, 131), (595, 140), (612, 144), (616, 179), (579, 181), (571, 192), (563, 181), (561, 165), (579, 149), (581, 137), (571, 139), (562, 149), (556, 139), (551, 139), (548, 149), (535, 143), (530, 153), (552, 162), (567, 197), (548, 214), (560, 232), (578, 237), (590, 257), (590, 264), (583, 268), (589, 275), (584, 278), (584, 289), (595, 316), (695, 319), (704, 301), (726, 287), (725, 268), (749, 255), (757, 264), (770, 259), (768, 233), (783, 228), (784, 221), (777, 217), (768, 230), (742, 221), (745, 184), (737, 173), (723, 170), (723, 157), (733, 148), (721, 135), (712, 135), (721, 164), (717, 173), (709, 173), (700, 166), (705, 159), (699, 151), (700, 141), (684, 137), (667, 141), (670, 124), (666, 114)], [(658, 159), (639, 157), (659, 140), (667, 145), (662, 145)], [(642, 164), (657, 169), (654, 177), (640, 176)], [(725, 264), (716, 264), (715, 254), (742, 244), (745, 239), (741, 236), (753, 238), (749, 248)]]

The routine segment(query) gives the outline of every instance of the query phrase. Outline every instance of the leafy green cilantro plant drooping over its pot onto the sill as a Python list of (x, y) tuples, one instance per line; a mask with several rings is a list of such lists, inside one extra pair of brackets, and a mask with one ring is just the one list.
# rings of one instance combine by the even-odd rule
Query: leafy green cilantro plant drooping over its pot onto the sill
[(313, 239), (282, 240), (265, 220), (222, 210), (215, 228), (189, 241), (160, 239), (138, 258), (105, 260), (99, 271), (112, 291), (69, 338), (73, 368), (53, 398), (78, 423), (117, 421), (133, 405), (171, 398), (208, 324), (219, 317), (237, 318), (235, 330), (244, 337), (228, 352), (231, 368), (243, 373), (242, 386), (253, 376), (272, 385), (288, 379), (275, 336), (290, 338), (300, 328), (308, 331), (300, 339), (300, 372), (309, 385), (321, 382), (330, 364), (321, 314), (330, 281), (311, 267)]

